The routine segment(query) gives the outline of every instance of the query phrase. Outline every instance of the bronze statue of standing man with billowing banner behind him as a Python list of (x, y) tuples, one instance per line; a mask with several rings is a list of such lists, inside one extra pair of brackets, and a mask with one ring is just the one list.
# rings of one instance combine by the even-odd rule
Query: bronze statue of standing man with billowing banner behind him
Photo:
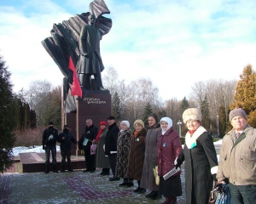
[[(69, 20), (64, 20), (58, 25), (54, 24), (50, 31), (51, 37), (42, 41), (44, 48), (64, 75), (63, 99), (69, 111), (76, 111), (75, 99), (70, 94), (73, 84), (73, 71), (68, 68), (70, 58), (76, 68), (83, 97), (87, 90), (92, 89), (90, 82), (92, 75), (95, 77), (97, 90), (106, 91), (102, 86), (101, 71), (104, 66), (99, 43), (102, 36), (110, 31), (112, 20), (102, 16), (102, 14), (110, 14), (103, 0), (94, 0), (90, 3), (89, 9), (90, 12), (76, 14)], [(87, 37), (91, 39), (87, 41)]]

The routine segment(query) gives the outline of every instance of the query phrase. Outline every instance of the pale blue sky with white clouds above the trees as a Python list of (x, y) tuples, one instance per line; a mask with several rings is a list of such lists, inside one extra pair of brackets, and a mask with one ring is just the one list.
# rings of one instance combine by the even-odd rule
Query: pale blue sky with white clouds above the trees
[[(34, 80), (61, 84), (41, 41), (54, 23), (89, 11), (91, 0), (1, 0), (0, 54), (14, 90)], [(150, 78), (162, 99), (189, 98), (195, 82), (239, 79), (256, 65), (256, 1), (105, 0), (113, 27), (102, 38), (105, 68), (129, 83)], [(105, 71), (106, 72), (106, 71)], [(104, 75), (104, 71), (102, 71)]]

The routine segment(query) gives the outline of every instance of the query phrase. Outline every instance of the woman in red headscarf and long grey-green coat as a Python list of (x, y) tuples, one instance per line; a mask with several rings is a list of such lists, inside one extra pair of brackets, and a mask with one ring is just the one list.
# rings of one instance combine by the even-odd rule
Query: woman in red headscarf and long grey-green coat
[(96, 150), (96, 167), (102, 168), (102, 176), (109, 175), (110, 164), (108, 157), (105, 156), (105, 139), (108, 133), (107, 122), (100, 122), (100, 130), (96, 135), (97, 150)]

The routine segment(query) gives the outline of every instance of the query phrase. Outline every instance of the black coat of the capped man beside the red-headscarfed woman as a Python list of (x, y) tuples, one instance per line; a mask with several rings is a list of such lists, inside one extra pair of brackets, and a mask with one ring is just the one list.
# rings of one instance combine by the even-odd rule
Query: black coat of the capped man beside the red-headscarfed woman
[(110, 151), (117, 151), (117, 140), (119, 136), (119, 127), (113, 122), (108, 127), (108, 133), (105, 139), (105, 155), (109, 156)]

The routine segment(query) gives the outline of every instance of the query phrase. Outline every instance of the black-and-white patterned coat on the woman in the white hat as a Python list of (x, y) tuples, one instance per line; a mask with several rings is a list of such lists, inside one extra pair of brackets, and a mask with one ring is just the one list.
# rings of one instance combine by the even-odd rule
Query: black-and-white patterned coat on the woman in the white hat
[(119, 132), (117, 159), (115, 167), (116, 177), (126, 178), (128, 156), (130, 150), (131, 129), (128, 127), (124, 131)]

